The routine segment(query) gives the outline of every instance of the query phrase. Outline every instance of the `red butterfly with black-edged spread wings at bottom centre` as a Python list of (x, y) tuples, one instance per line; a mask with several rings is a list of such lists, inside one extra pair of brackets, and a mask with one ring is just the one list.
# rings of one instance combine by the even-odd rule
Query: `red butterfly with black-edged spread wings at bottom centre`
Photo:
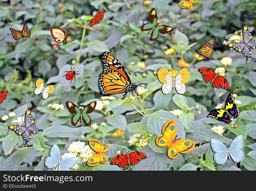
[[(124, 150), (124, 149), (123, 149)], [(125, 150), (124, 150), (125, 151)], [(147, 158), (147, 156), (139, 151), (127, 152), (126, 154), (120, 154), (115, 156), (111, 160), (111, 165), (119, 165), (120, 167), (127, 167), (127, 165), (136, 165), (140, 160)]]

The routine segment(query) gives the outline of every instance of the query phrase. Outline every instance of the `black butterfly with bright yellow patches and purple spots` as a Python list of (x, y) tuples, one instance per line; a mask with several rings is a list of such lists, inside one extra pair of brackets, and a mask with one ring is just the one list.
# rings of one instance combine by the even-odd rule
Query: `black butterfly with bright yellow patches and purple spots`
[[(230, 92), (230, 94), (227, 96), (225, 106), (220, 109), (214, 109), (212, 110), (207, 117), (215, 118), (218, 121), (229, 123), (232, 121), (232, 118), (237, 118), (238, 110), (237, 106), (234, 102), (234, 97), (232, 96), (233, 92)], [(220, 98), (221, 101), (223, 98)]]

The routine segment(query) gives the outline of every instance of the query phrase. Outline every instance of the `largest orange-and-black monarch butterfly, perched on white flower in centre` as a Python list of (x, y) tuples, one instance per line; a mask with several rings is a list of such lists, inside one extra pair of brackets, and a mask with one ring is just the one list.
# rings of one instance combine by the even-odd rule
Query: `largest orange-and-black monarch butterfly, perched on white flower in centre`
[[(124, 99), (126, 94), (131, 92), (133, 96), (139, 96), (137, 87), (145, 88), (145, 86), (132, 84), (128, 74), (125, 72), (125, 68), (113, 54), (107, 51), (103, 52), (100, 60), (103, 72), (99, 76), (98, 85), (99, 92), (102, 95), (125, 93), (122, 97)], [(144, 84), (147, 85), (146, 83)]]

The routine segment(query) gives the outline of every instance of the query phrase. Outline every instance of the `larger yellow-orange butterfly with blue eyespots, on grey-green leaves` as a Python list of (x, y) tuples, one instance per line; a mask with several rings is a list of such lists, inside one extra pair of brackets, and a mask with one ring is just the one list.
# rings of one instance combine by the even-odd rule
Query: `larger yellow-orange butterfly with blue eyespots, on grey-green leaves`
[(168, 148), (167, 155), (171, 159), (177, 158), (179, 153), (188, 153), (195, 147), (195, 143), (191, 140), (177, 139), (176, 132), (176, 123), (173, 119), (170, 119), (163, 125), (163, 135), (158, 136), (156, 139), (157, 146)]

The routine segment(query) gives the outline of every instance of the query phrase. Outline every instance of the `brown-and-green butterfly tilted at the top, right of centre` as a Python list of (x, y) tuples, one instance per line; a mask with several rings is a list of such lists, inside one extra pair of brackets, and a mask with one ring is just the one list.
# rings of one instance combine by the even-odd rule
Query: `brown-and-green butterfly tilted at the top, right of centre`
[(159, 32), (162, 34), (170, 33), (174, 30), (173, 27), (164, 25), (157, 18), (157, 11), (155, 8), (152, 8), (149, 12), (148, 19), (150, 23), (143, 24), (141, 26), (141, 31), (148, 31), (147, 34), (150, 34), (150, 40), (156, 40)]

